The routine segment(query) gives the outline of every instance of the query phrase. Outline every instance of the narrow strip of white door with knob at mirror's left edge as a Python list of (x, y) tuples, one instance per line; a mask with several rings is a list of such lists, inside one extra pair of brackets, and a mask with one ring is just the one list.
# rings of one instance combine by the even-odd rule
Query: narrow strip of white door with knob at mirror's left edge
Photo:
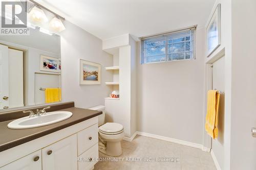
[(8, 46), (0, 44), (0, 109), (9, 107)]

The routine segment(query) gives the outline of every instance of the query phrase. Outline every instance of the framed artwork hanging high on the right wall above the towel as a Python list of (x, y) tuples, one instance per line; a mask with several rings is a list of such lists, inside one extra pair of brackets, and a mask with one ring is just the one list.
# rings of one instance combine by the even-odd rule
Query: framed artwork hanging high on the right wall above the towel
[(221, 45), (221, 4), (218, 4), (206, 27), (207, 57)]

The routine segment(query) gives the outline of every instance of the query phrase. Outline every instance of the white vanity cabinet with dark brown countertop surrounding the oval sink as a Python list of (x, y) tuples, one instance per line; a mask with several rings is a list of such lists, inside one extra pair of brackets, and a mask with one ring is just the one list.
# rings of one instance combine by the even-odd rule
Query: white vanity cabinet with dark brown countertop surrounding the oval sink
[(24, 116), (24, 113), (0, 113), (1, 120), (8, 114), (12, 118), (0, 122), (1, 170), (93, 169), (98, 158), (98, 115), (102, 112), (76, 108), (73, 102), (55, 104), (51, 109), (69, 111), (73, 115), (47, 126), (9, 129), (7, 125), (14, 117)]

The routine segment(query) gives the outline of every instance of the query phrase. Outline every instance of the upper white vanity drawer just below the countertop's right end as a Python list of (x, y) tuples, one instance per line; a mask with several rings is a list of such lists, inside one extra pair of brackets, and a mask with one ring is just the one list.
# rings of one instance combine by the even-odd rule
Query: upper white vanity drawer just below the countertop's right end
[(77, 133), (78, 156), (98, 143), (98, 124)]

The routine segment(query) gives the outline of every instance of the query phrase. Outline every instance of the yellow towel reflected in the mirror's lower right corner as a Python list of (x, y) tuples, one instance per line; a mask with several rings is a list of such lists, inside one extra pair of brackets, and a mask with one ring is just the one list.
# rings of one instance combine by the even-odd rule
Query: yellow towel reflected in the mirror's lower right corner
[(59, 88), (46, 88), (46, 103), (60, 102), (61, 90)]

